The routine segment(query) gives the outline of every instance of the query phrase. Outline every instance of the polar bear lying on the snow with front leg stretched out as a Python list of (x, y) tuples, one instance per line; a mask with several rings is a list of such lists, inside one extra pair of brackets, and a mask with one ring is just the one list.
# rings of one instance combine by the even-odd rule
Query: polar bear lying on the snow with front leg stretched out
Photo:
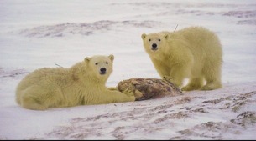
[(71, 68), (39, 68), (18, 83), (16, 101), (34, 110), (135, 101), (132, 93), (105, 86), (113, 59), (95, 55)]

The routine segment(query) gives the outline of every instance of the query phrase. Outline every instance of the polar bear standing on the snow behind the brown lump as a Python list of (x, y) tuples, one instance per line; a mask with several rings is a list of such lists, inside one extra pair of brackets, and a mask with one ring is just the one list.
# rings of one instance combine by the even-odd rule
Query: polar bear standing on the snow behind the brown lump
[[(161, 78), (184, 91), (222, 87), (222, 45), (215, 33), (202, 27), (175, 32), (143, 33), (144, 49)], [(206, 85), (204, 85), (204, 79)]]

